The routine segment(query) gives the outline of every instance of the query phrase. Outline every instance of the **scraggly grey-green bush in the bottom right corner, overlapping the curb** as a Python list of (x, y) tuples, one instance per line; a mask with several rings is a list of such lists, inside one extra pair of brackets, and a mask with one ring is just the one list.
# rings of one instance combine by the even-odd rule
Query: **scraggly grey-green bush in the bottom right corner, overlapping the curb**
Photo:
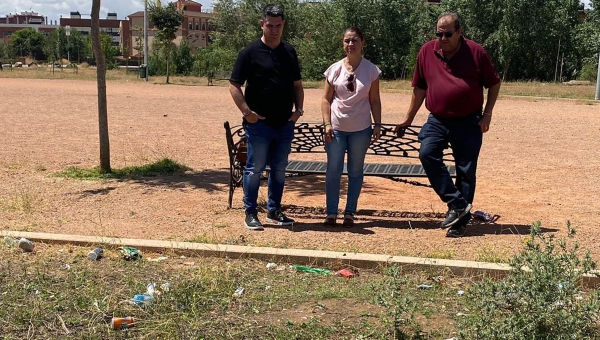
[[(568, 225), (569, 238), (575, 231)], [(531, 228), (521, 253), (510, 260), (503, 280), (486, 279), (465, 295), (470, 314), (459, 320), (460, 339), (596, 339), (600, 299), (577, 286), (596, 268), (579, 245), (556, 242)]]

